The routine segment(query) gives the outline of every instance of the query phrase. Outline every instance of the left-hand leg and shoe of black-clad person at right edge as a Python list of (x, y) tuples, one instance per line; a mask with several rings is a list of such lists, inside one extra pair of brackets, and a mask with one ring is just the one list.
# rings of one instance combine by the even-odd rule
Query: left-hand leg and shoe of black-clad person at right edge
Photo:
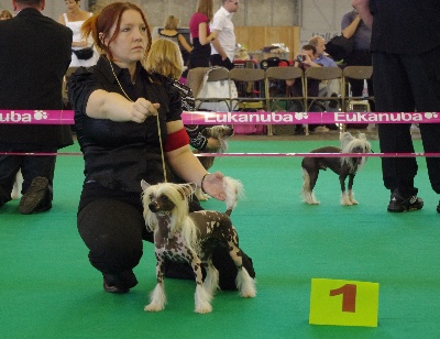
[[(378, 112), (410, 112), (415, 109), (413, 85), (400, 56), (375, 53), (373, 57), (376, 110)], [(383, 123), (378, 125), (381, 152), (414, 153), (413, 140), (407, 123)], [(414, 177), (417, 174), (415, 157), (383, 157), (382, 172), (384, 185), (392, 193), (388, 206), (391, 211), (403, 211), (422, 206), (420, 199), (414, 200), (417, 188)], [(407, 200), (407, 201), (406, 201)], [(414, 200), (414, 201), (413, 201)], [(402, 204), (404, 206), (400, 206)], [(406, 206), (408, 205), (409, 206)], [(393, 205), (393, 206), (392, 206)], [(397, 207), (395, 206), (397, 205)], [(395, 208), (396, 207), (396, 208)], [(398, 209), (398, 210), (394, 210)]]

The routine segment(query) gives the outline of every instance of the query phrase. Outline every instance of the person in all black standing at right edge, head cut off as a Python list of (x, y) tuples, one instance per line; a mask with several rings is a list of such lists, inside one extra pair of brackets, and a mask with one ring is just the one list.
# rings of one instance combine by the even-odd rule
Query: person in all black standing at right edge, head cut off
[[(437, 0), (352, 0), (372, 26), (373, 78), (380, 112), (440, 111), (440, 7)], [(410, 24), (408, 24), (410, 23)], [(425, 152), (440, 152), (440, 124), (420, 123)], [(381, 152), (414, 153), (410, 123), (378, 125)], [(429, 181), (440, 194), (440, 157), (427, 157)], [(415, 157), (383, 157), (384, 185), (391, 192), (387, 210), (418, 210)], [(440, 212), (440, 204), (437, 206)]]

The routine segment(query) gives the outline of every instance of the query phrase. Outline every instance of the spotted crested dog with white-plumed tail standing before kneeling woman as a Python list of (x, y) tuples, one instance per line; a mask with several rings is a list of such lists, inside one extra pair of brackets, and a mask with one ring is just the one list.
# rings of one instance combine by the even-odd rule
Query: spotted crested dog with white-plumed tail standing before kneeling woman
[[(238, 267), (235, 285), (242, 297), (256, 295), (254, 280), (242, 264), (242, 251), (235, 228), (229, 218), (242, 192), (242, 184), (230, 177), (223, 178), (227, 193), (227, 212), (201, 210), (188, 212), (188, 199), (193, 196), (195, 184), (157, 184), (142, 182), (144, 218), (146, 227), (154, 232), (157, 260), (157, 284), (151, 293), (147, 311), (165, 308), (164, 289), (165, 260), (187, 262), (196, 278), (195, 311), (199, 314), (212, 310), (212, 295), (219, 288), (219, 272), (212, 265), (212, 241), (222, 243)], [(201, 266), (206, 269), (202, 280)]]

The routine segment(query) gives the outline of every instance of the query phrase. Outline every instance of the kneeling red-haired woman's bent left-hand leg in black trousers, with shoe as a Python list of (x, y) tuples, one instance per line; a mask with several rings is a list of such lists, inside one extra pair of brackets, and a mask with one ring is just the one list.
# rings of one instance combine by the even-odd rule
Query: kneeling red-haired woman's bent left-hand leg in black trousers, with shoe
[(145, 222), (135, 207), (116, 199), (99, 199), (78, 212), (78, 231), (90, 250), (89, 260), (105, 277), (105, 286), (128, 292), (138, 284), (133, 267), (143, 253)]

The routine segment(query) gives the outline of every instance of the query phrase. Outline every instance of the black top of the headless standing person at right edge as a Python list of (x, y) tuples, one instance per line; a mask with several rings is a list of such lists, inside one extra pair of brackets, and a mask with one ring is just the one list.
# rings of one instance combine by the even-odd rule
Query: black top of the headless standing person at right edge
[(371, 0), (371, 50), (421, 54), (440, 45), (439, 0)]

